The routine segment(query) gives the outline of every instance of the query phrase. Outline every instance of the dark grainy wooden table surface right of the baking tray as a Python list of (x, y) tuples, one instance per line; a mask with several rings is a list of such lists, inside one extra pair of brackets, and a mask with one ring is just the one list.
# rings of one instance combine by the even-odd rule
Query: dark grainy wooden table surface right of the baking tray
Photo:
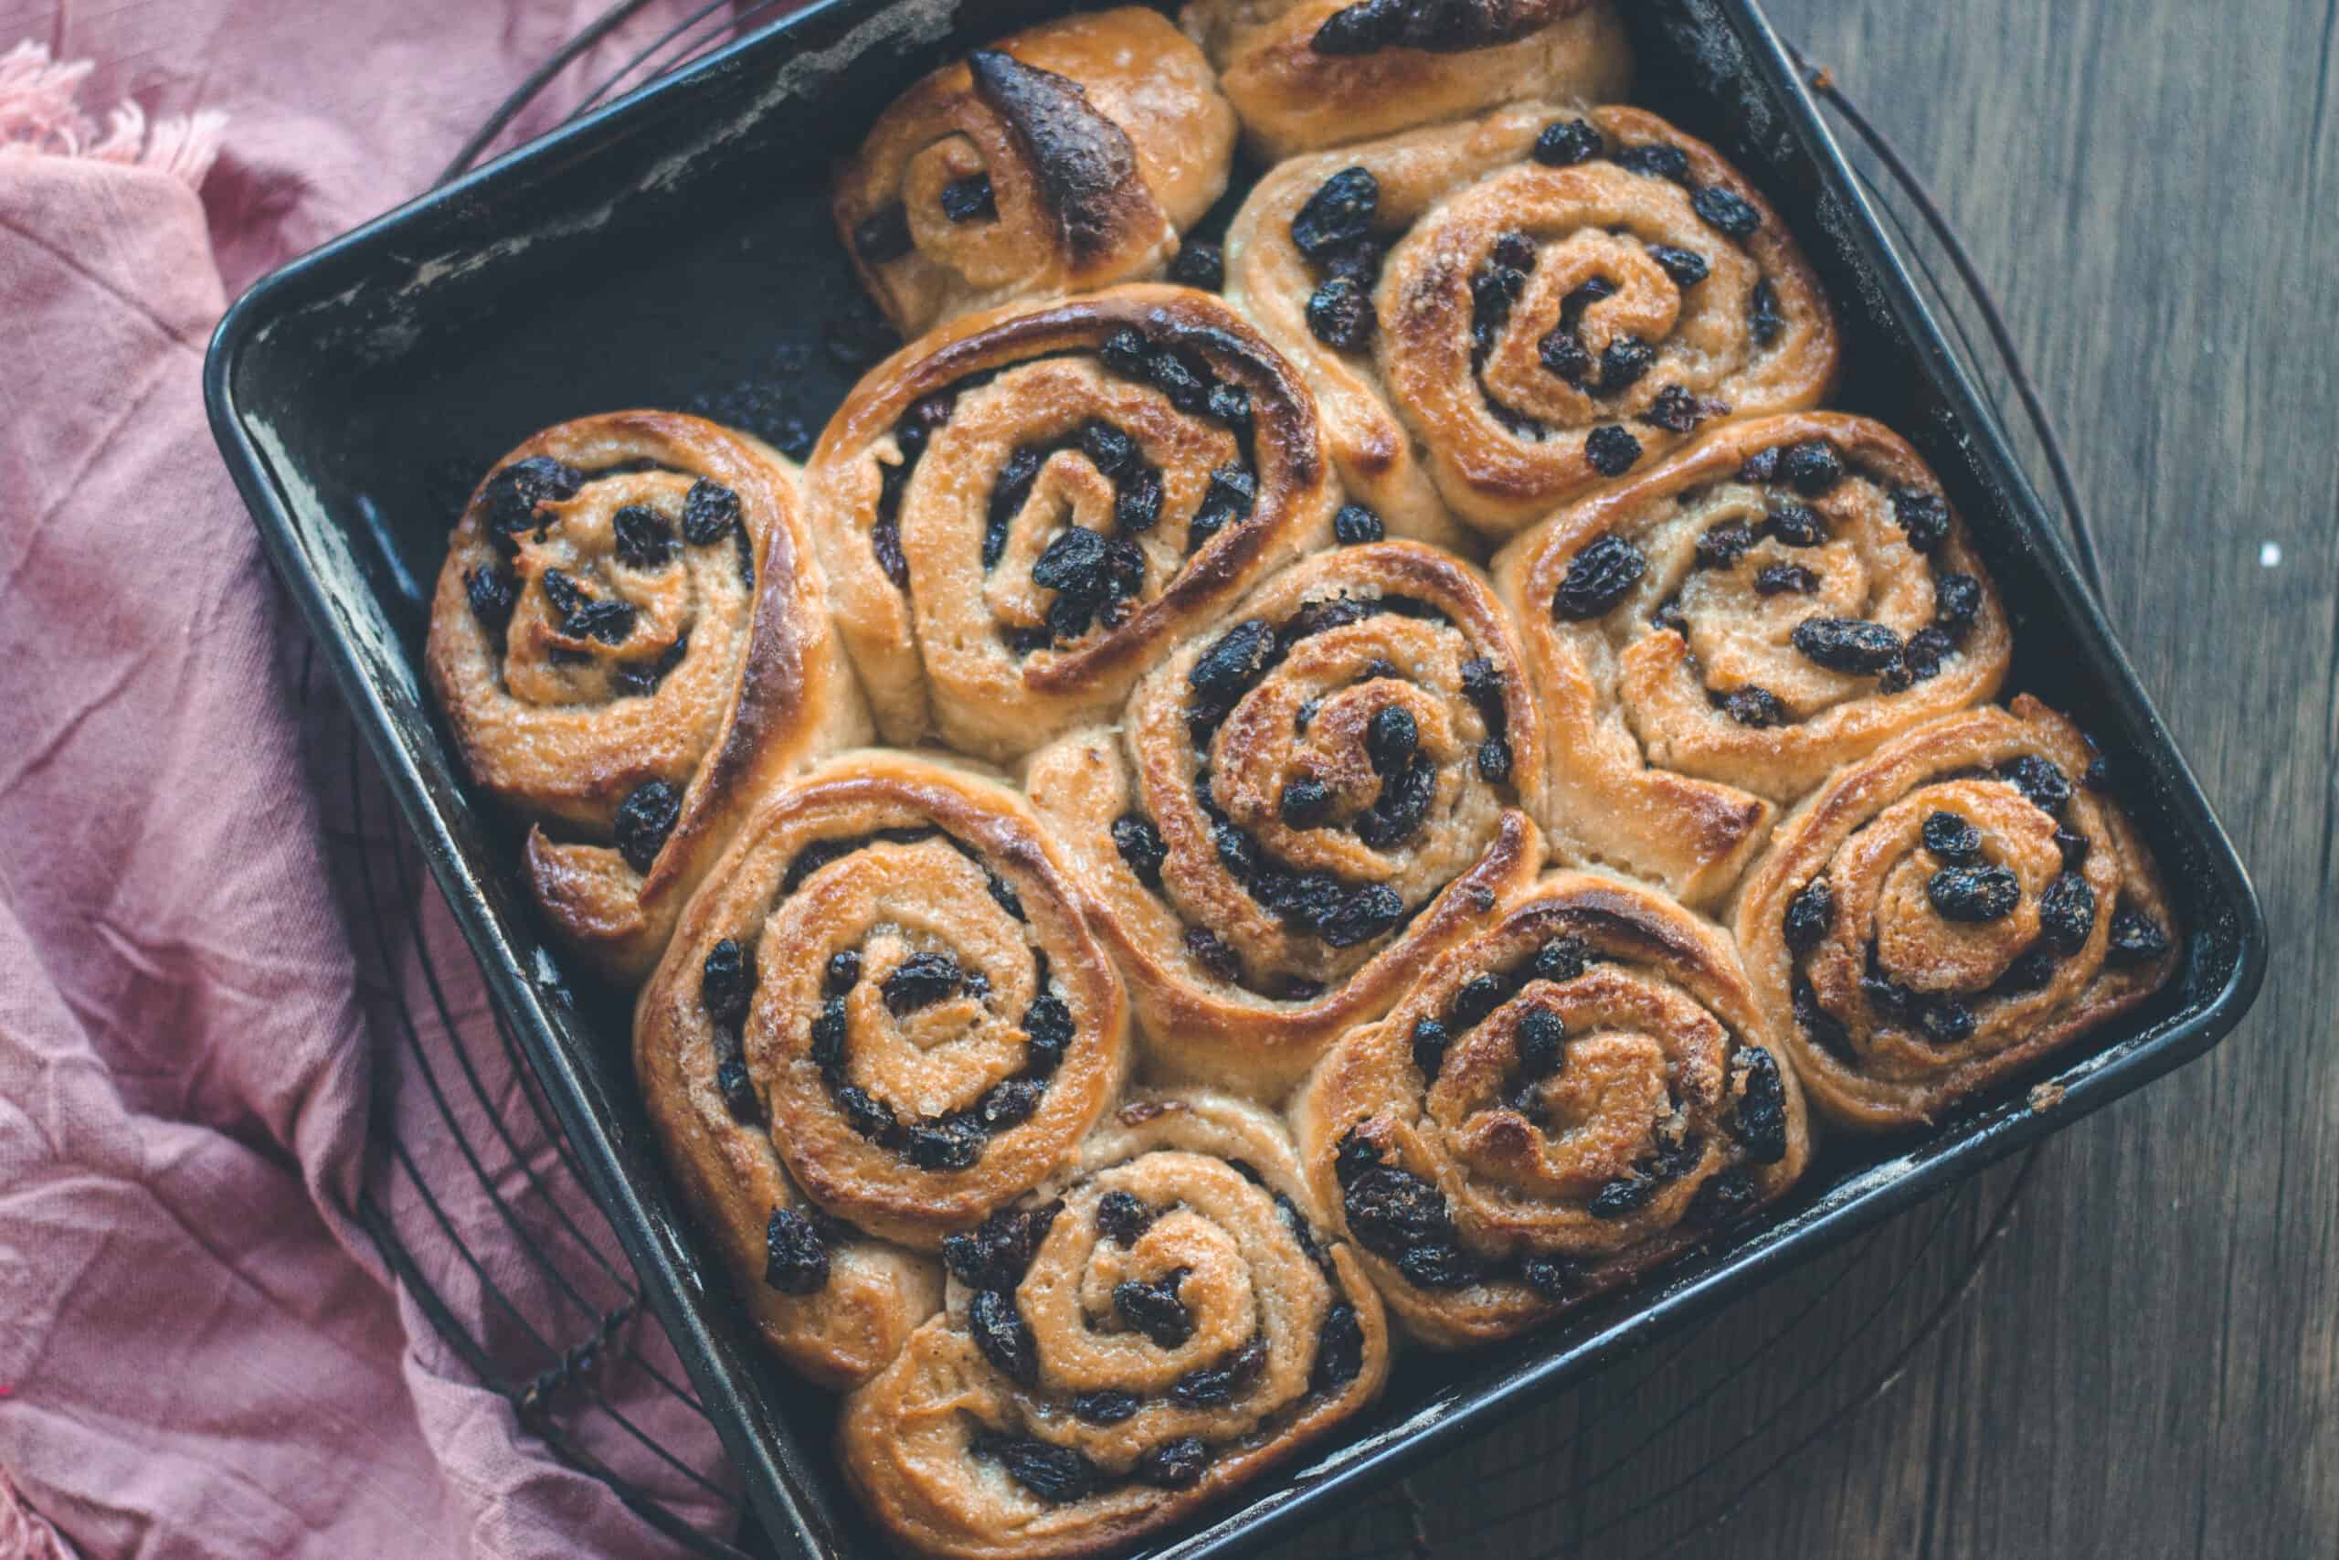
[[(1768, 9), (2005, 306), (2271, 971), (2224, 1045), (2054, 1137), (2028, 1183), (1998, 1167), (1431, 1464), (1427, 1548), (2334, 1555), (2339, 0)], [(1277, 1553), (1408, 1532), (1392, 1502)]]

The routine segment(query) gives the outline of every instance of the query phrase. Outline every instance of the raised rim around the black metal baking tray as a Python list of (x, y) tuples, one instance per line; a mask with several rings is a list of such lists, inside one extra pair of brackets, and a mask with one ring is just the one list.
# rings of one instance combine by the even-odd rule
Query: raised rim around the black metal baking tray
[[(646, 1197), (648, 1188), (636, 1186), (627, 1176), (617, 1160), (608, 1123), (594, 1111), (585, 1081), (552, 1036), (550, 1006), (564, 996), (564, 987), (557, 978), (524, 968), (519, 952), (494, 926), (487, 905), (489, 889), (482, 875), (463, 856), (447, 819), (430, 800), (423, 772), (388, 709), (386, 690), (360, 669), (330, 592), (302, 538), (299, 522), (288, 501), (285, 477), (274, 468), (269, 451), (253, 437), (239, 412), (234, 377), (243, 353), (260, 346), (271, 320), (311, 302), (320, 290), (330, 292), (337, 269), (367, 260), (377, 246), (393, 241), (405, 225), (442, 206), (475, 199), (484, 189), (522, 180), (536, 168), (596, 143), (608, 133), (610, 124), (634, 122), (667, 108), (678, 94), (692, 91), (706, 77), (737, 65), (751, 54), (781, 51), (791, 35), (807, 28), (807, 23), (826, 21), (830, 14), (849, 14), (868, 21), (886, 2), (812, 0), (802, 9), (683, 65), (674, 75), (603, 103), (285, 262), (255, 281), (227, 306), (203, 358), (203, 405), (213, 440), (253, 515), (276, 575), (297, 601), (311, 636), (332, 667), (334, 683), (351, 706), (353, 723), (365, 734), (367, 748), (381, 767), (433, 879), (449, 900), (465, 945), (487, 975), (503, 1015), (512, 1022), (531, 1069), (554, 1104), (561, 1130), (578, 1148), (587, 1190), (592, 1190), (608, 1216), (610, 1230), (617, 1235), (641, 1279), (643, 1296), (667, 1328), (690, 1382), (699, 1389), (725, 1452), (739, 1469), (746, 1499), (763, 1523), (765, 1537), (774, 1546), (793, 1546), (805, 1555), (828, 1553), (828, 1537), (821, 1532), (823, 1523), (800, 1504), (795, 1495), (798, 1476), (786, 1466), (788, 1459), (779, 1455), (774, 1443), (753, 1431), (751, 1420), (760, 1415), (751, 1408), (725, 1345), (685, 1298), (690, 1279), (664, 1242), (657, 1240)], [(2164, 800), (2173, 814), (2182, 814), (2196, 826), (2206, 868), (2203, 879), (2213, 884), (2213, 898), (2220, 900), (2217, 907), (2234, 924), (2234, 966), (2224, 982), (2194, 1010), (2166, 1017), (2117, 1043), (2112, 1050), (2079, 1059), (2075, 1071), (2058, 1074), (2063, 1097), (2054, 1109), (2040, 1111), (2026, 1109), (2021, 1102), (2002, 1102), (1990, 1113), (1962, 1123), (1960, 1137), (1913, 1144), (1906, 1153), (1897, 1153), (1845, 1179), (1789, 1219), (1752, 1230), (1747, 1240), (1759, 1240), (1761, 1244), (1740, 1242), (1736, 1251), (1714, 1256), (1707, 1270), (1684, 1275), (1661, 1289), (1642, 1291), (1640, 1298), (1644, 1298), (1644, 1305), (1609, 1317), (1600, 1328), (1551, 1347), (1541, 1357), (1516, 1361), (1502, 1375), (1478, 1387), (1467, 1387), (1464, 1382), (1448, 1385), (1429, 1403), (1368, 1436), (1317, 1448), (1315, 1462), (1296, 1469), (1308, 1473), (1305, 1480), (1261, 1490), (1249, 1499), (1235, 1497), (1221, 1502), (1198, 1523), (1172, 1530), (1167, 1544), (1139, 1551), (1146, 1560), (1200, 1560), (1202, 1555), (1219, 1558), (1249, 1551), (1315, 1518), (1343, 1492), (1378, 1487), (1455, 1441), (1485, 1434), (1499, 1422), (1525, 1413), (1541, 1394), (1591, 1371), (1614, 1366), (1656, 1338), (1714, 1312), (1726, 1300), (1747, 1293), (1787, 1268), (1843, 1244), (1883, 1219), (1979, 1174), (2005, 1155), (2051, 1132), (2061, 1132), (2112, 1099), (2201, 1057), (2231, 1034), (2264, 985), (2266, 919), (2257, 889), (2231, 837), (2208, 805), (2185, 751), (2171, 737), (2157, 706), (2136, 678), (2136, 669), (2100, 603), (2082, 587), (2063, 529), (2047, 515), (2035, 484), (2014, 458), (1998, 414), (1981, 400), (1930, 304), (1918, 292), (1909, 262), (1878, 220), (1874, 203), (1843, 154), (1843, 145), (1787, 58), (1785, 44), (1764, 14), (1761, 0), (1710, 2), (1738, 28), (1747, 44), (1745, 63), (1759, 77), (1773, 105), (1782, 110), (1787, 119), (1785, 136), (1799, 140), (1817, 166), (1820, 199), (1834, 199), (1843, 206), (1843, 215), (1850, 222), (1848, 241), (1852, 248), (1864, 250), (1881, 302), (1906, 344), (1925, 358), (1927, 372), (1948, 407), (1948, 421), (1960, 435), (1974, 442), (1974, 458), (2000, 489), (2014, 529), (2040, 552), (2040, 573), (2047, 578), (2056, 610), (2068, 627), (2096, 643), (2105, 671), (2140, 720), (2140, 739), (2157, 746), (2166, 760), (2171, 784)], [(681, 1223), (688, 1223), (688, 1219), (681, 1219)], [(1619, 1300), (1619, 1305), (1623, 1303), (1628, 1300)], [(1455, 1396), (1462, 1401), (1453, 1401)], [(777, 1441), (788, 1441), (788, 1436), (781, 1431)], [(1286, 1466), (1284, 1476), (1289, 1478), (1291, 1471)]]

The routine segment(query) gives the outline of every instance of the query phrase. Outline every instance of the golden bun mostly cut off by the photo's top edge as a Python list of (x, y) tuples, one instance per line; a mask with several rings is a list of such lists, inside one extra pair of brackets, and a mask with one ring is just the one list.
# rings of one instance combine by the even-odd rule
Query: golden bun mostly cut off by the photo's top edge
[[(1366, 47), (1352, 0), (1195, 0), (1179, 21), (1268, 159), (1467, 119), (1502, 103), (1616, 103), (1633, 49), (1609, 0), (1481, 0), (1450, 28)], [(1380, 0), (1375, 9), (1403, 9)], [(1415, 7), (1427, 9), (1427, 7)], [(1331, 33), (1326, 33), (1331, 26)], [(1354, 42), (1338, 42), (1347, 33)], [(1329, 49), (1319, 49), (1317, 42)]]

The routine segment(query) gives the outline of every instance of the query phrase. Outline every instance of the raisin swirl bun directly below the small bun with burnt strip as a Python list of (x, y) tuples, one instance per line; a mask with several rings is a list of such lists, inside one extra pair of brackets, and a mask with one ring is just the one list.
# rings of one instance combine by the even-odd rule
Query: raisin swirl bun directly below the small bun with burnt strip
[(805, 472), (886, 741), (1013, 758), (1319, 545), (1336, 489), (1289, 365), (1219, 299), (1116, 288), (882, 363)]

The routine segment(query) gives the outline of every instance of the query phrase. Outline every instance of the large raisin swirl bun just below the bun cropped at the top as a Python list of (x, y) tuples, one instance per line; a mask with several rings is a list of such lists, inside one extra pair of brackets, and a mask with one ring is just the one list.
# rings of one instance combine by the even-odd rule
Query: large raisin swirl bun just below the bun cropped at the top
[(1282, 164), (1228, 299), (1308, 377), (1350, 493), (1509, 536), (1717, 416), (1815, 405), (1836, 323), (1787, 225), (1635, 108), (1506, 108)]

